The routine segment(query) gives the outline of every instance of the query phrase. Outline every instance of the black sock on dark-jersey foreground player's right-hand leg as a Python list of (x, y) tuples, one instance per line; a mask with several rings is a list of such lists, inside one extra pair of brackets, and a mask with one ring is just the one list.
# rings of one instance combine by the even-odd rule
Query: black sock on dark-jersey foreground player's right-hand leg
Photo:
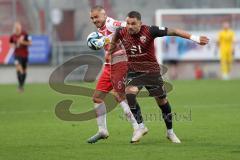
[(172, 113), (170, 104), (167, 102), (164, 105), (159, 105), (159, 107), (162, 110), (162, 117), (167, 129), (172, 129)]

